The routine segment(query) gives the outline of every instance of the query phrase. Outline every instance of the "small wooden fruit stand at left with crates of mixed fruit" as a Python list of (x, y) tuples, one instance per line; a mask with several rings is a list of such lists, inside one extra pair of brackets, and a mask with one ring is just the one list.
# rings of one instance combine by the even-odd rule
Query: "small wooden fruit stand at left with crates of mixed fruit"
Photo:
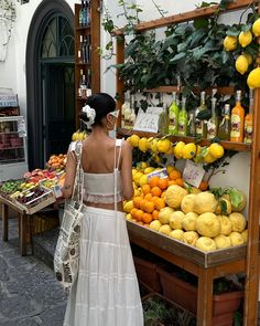
[(46, 169), (25, 172), (22, 179), (0, 183), (0, 206), (2, 208), (2, 240), (8, 241), (9, 209), (19, 217), (21, 255), (26, 255), (28, 243), (32, 244), (34, 214), (52, 206), (62, 196), (66, 155), (52, 156)]

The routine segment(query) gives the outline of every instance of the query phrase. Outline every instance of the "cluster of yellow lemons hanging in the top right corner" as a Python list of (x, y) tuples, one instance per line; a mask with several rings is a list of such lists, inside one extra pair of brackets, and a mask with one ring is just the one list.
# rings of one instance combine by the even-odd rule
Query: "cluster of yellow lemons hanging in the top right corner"
[[(247, 46), (253, 41), (253, 36), (260, 36), (260, 18), (258, 18), (252, 24), (252, 29), (249, 31), (241, 31), (237, 36), (227, 35), (224, 40), (224, 48), (227, 52), (237, 49), (238, 43), (245, 49), (243, 53), (240, 54), (236, 60), (236, 70), (243, 75), (249, 66), (252, 64), (252, 56), (247, 53)], [(247, 78), (249, 88), (260, 87), (260, 67), (253, 69)]]

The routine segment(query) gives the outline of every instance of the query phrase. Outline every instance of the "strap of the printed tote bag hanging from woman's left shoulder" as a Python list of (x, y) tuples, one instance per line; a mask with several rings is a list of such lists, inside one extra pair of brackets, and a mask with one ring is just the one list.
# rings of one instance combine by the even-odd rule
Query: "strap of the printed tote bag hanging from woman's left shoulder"
[(82, 204), (83, 203), (83, 168), (82, 168), (83, 143), (82, 141), (76, 141), (74, 153), (76, 155), (77, 166), (76, 166), (72, 200)]

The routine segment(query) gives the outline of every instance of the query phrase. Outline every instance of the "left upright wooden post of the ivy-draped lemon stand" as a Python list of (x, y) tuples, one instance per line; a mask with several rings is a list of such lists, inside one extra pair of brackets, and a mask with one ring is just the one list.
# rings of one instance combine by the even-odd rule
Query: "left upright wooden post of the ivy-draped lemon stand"
[[(117, 64), (124, 62), (124, 36), (118, 35), (117, 38)], [(121, 127), (121, 107), (123, 103), (123, 80), (119, 77), (117, 70), (117, 108), (119, 109), (118, 127)]]

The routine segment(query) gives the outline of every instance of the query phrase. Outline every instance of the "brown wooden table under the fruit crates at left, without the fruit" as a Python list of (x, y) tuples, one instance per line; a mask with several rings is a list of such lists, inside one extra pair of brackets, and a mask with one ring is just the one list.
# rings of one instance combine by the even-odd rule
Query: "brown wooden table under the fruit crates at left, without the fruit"
[(22, 206), (15, 204), (14, 202), (8, 200), (7, 198), (0, 196), (0, 206), (2, 207), (2, 241), (8, 241), (9, 234), (9, 208), (18, 212), (19, 218), (19, 241), (20, 241), (20, 252), (21, 255), (26, 255), (26, 246), (31, 245), (31, 253), (33, 253), (32, 248), (32, 215), (42, 210), (43, 208), (52, 204), (54, 198), (47, 198), (45, 201), (39, 203), (34, 209), (26, 210)]

